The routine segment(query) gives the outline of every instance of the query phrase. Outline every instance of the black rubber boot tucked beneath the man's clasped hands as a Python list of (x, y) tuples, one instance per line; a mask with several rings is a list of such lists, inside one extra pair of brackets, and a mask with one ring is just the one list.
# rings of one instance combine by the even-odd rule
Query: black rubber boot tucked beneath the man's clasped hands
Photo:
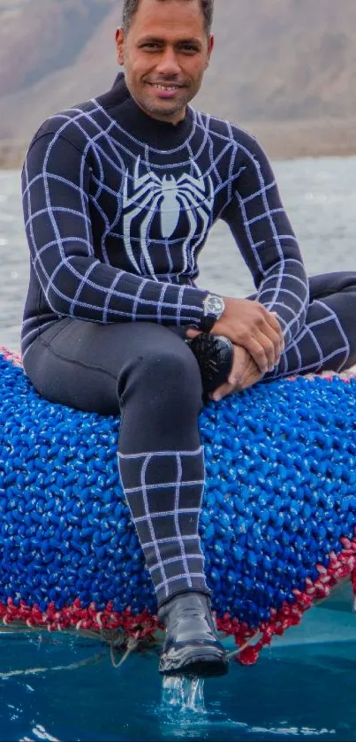
[(201, 370), (203, 393), (214, 392), (227, 380), (232, 367), (231, 340), (222, 335), (201, 333), (193, 340), (186, 340)]

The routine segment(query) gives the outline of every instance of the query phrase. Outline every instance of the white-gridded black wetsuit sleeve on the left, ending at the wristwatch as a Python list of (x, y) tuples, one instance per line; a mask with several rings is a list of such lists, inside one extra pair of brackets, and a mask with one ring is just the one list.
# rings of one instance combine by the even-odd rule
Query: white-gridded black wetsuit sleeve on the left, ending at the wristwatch
[(22, 173), (27, 241), (51, 310), (101, 323), (199, 325), (207, 292), (146, 279), (97, 259), (90, 181), (86, 158), (72, 142), (43, 134), (30, 147)]

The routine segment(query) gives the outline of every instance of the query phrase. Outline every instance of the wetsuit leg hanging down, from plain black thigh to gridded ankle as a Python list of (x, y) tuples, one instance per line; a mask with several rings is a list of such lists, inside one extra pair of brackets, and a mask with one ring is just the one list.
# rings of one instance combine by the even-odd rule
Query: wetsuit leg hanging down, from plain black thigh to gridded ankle
[(121, 412), (119, 470), (159, 606), (178, 593), (209, 594), (198, 535), (201, 375), (184, 340), (160, 325), (65, 318), (34, 341), (24, 365), (51, 402)]

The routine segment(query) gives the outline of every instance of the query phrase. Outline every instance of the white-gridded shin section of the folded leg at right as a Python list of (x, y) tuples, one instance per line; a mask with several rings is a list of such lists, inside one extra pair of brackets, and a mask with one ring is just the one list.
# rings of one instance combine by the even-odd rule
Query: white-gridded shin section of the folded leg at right
[[(306, 324), (285, 348), (279, 365), (265, 375), (265, 379), (278, 379), (289, 374), (321, 371), (328, 368), (331, 358), (340, 356), (337, 371), (345, 367), (350, 355), (350, 343), (337, 314), (325, 302), (311, 303)], [(308, 363), (305, 363), (305, 359)]]

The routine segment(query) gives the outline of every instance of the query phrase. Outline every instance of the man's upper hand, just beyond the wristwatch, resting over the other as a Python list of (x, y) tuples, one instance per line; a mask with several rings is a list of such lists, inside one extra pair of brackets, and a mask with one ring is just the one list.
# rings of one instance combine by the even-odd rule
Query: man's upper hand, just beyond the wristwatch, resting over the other
[[(273, 312), (250, 299), (224, 298), (225, 310), (211, 330), (213, 335), (223, 335), (234, 345), (246, 348), (261, 374), (272, 371), (279, 363), (284, 350), (281, 325)], [(193, 330), (186, 335), (193, 338)]]

